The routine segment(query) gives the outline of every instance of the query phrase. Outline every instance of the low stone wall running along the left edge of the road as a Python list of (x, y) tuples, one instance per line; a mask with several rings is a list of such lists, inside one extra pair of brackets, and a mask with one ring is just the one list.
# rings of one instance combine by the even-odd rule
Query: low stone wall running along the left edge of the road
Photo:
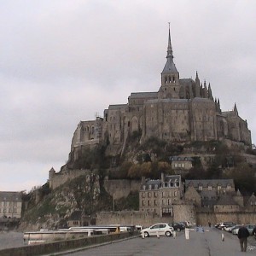
[(90, 236), (81, 239), (75, 240), (65, 240), (65, 241), (55, 241), (51, 243), (43, 243), (43, 244), (36, 244), (26, 247), (17, 247), (17, 248), (9, 248), (0, 250), (1, 256), (37, 256), (37, 255), (44, 255), (49, 253), (56, 253), (56, 252), (63, 252), (79, 247), (87, 247), (94, 244), (101, 244), (103, 242), (111, 242), (116, 241), (119, 239), (125, 239), (131, 236), (137, 236), (138, 233), (119, 233), (119, 234), (110, 234), (106, 236)]

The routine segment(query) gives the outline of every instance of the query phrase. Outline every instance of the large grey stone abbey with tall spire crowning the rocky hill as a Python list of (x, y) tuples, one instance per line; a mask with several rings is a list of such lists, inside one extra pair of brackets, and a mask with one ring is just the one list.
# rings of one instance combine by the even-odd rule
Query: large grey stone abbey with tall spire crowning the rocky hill
[(232, 111), (222, 111), (211, 85), (201, 84), (197, 72), (195, 80), (180, 79), (173, 62), (170, 28), (159, 90), (132, 92), (127, 103), (109, 105), (103, 118), (80, 121), (70, 157), (75, 160), (84, 146), (107, 142), (112, 154), (120, 154), (134, 131), (141, 134), (142, 142), (154, 136), (175, 143), (228, 139), (251, 145), (247, 120), (238, 115), (236, 103)]

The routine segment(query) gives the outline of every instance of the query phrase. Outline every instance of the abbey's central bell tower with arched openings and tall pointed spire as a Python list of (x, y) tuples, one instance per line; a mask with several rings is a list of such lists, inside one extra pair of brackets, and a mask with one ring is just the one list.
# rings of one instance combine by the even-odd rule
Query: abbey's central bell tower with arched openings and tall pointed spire
[(161, 86), (159, 92), (159, 98), (179, 98), (179, 73), (173, 62), (172, 44), (171, 44), (171, 32), (169, 23), (169, 37), (168, 47), (166, 55), (166, 65), (161, 73)]

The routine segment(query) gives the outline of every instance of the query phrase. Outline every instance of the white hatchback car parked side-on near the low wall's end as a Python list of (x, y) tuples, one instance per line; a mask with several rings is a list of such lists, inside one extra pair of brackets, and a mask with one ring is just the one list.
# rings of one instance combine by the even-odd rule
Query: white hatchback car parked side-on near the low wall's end
[(154, 224), (146, 229), (141, 230), (141, 235), (148, 236), (172, 236), (174, 229), (166, 223)]

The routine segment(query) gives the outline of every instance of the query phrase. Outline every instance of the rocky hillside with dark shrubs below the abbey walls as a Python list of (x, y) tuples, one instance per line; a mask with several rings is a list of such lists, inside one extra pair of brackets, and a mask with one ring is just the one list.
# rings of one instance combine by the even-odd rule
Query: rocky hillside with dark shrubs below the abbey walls
[[(243, 194), (256, 192), (255, 168), (243, 157), (245, 151), (237, 146), (228, 148), (224, 143), (166, 143), (155, 137), (145, 143), (139, 143), (137, 134), (129, 138), (129, 143), (122, 156), (109, 156), (107, 148), (84, 148), (79, 159), (69, 161), (64, 170), (76, 172), (78, 169), (89, 170), (89, 175), (82, 175), (56, 189), (50, 189), (49, 183), (27, 195), (20, 229), (38, 230), (43, 228), (61, 228), (67, 226), (67, 220), (73, 212), (80, 211), (90, 221), (96, 212), (114, 210), (138, 210), (138, 193), (130, 193), (126, 198), (114, 201), (104, 188), (104, 180), (137, 179), (142, 177), (160, 178), (160, 173), (174, 174), (170, 156), (190, 155), (193, 167), (183, 175), (185, 178), (234, 178), (236, 189)], [(249, 152), (254, 153), (254, 152)], [(203, 155), (211, 154), (211, 162), (203, 160)], [(253, 156), (251, 154), (251, 156)], [(122, 189), (122, 188), (116, 188)]]

